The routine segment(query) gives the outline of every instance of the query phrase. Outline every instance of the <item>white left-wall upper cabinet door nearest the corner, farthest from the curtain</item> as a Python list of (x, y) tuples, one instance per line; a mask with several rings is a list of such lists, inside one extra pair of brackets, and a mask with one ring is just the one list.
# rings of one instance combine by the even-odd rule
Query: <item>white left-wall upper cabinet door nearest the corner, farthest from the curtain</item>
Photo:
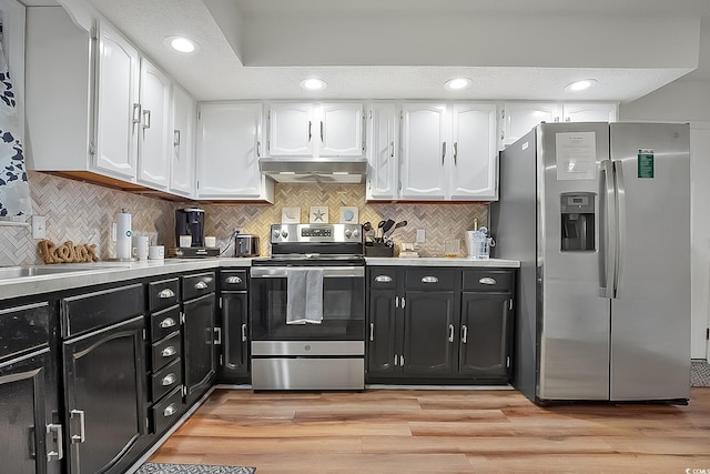
[(170, 192), (186, 198), (195, 193), (195, 121), (197, 107), (187, 92), (173, 85), (173, 133)]

